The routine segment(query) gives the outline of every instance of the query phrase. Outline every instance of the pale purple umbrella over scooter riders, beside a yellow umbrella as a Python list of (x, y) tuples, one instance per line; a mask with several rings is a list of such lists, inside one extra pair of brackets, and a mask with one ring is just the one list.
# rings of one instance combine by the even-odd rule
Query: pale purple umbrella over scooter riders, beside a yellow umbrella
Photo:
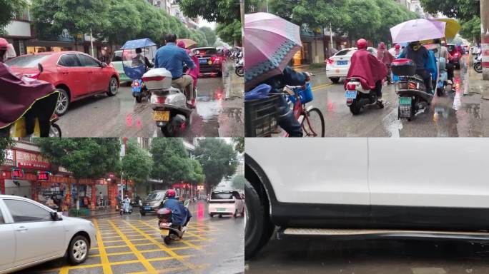
[(445, 37), (445, 22), (415, 19), (390, 28), (392, 42), (396, 44)]

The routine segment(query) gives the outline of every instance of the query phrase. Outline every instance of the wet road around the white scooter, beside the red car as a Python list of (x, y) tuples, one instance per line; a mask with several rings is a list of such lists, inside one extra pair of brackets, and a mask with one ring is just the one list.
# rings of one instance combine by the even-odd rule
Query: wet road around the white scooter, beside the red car
[[(229, 109), (225, 101), (229, 79), (199, 78), (197, 108), (192, 113), (192, 126), (183, 137), (218, 137), (227, 132), (219, 128), (232, 127), (239, 120), (241, 112)], [(233, 99), (239, 101), (241, 99)], [(239, 114), (239, 115), (238, 115)], [(149, 102), (136, 103), (131, 88), (121, 84), (114, 97), (103, 94), (71, 104), (69, 111), (58, 122), (63, 137), (159, 137), (163, 136), (152, 120)]]

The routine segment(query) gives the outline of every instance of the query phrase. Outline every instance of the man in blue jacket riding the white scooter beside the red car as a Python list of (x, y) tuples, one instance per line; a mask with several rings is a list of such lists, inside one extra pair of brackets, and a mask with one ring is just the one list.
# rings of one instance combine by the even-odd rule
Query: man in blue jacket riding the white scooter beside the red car
[(192, 103), (194, 96), (194, 79), (183, 73), (183, 64), (195, 68), (194, 61), (190, 59), (187, 51), (177, 46), (177, 36), (167, 34), (164, 38), (166, 45), (157, 50), (154, 57), (155, 68), (166, 68), (172, 73), (172, 86), (179, 88), (187, 95), (187, 106), (195, 108)]

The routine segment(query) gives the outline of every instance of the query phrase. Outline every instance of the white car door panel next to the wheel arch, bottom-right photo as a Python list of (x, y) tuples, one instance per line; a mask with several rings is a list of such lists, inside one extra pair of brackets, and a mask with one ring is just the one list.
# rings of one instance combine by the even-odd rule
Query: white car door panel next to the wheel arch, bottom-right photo
[(367, 138), (247, 138), (283, 203), (370, 205)]

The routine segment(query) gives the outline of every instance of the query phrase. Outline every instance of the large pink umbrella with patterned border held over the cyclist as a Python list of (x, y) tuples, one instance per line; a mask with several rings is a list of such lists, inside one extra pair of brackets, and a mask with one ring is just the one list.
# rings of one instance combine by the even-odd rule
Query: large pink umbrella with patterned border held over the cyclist
[(245, 14), (245, 89), (282, 73), (292, 56), (300, 50), (299, 26), (258, 12)]

